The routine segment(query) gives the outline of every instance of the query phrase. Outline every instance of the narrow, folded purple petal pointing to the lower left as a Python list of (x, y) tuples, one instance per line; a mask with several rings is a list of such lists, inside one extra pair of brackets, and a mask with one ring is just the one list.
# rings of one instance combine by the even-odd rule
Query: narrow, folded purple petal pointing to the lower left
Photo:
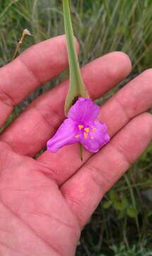
[(65, 119), (54, 137), (47, 142), (47, 150), (57, 152), (62, 146), (79, 142), (76, 132), (76, 123), (71, 119)]

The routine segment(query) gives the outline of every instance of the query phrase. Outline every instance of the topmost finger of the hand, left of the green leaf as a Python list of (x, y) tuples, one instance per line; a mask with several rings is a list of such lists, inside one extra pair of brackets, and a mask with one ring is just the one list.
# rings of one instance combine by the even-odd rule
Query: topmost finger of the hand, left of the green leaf
[(67, 67), (66, 39), (65, 36), (57, 36), (31, 46), (1, 68), (0, 126), (24, 97)]

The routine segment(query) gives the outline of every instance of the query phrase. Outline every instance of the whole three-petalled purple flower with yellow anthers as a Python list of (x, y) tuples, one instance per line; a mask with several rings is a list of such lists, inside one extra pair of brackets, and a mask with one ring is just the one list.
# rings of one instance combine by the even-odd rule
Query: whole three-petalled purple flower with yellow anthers
[(47, 142), (47, 150), (56, 152), (62, 146), (80, 142), (90, 152), (98, 152), (109, 142), (107, 126), (97, 117), (100, 107), (90, 99), (80, 97), (71, 107), (52, 139)]

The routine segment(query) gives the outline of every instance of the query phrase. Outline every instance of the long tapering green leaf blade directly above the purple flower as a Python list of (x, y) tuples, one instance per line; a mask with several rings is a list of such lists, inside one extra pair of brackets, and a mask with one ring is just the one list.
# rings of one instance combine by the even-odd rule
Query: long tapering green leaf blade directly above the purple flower
[(69, 9), (69, 0), (63, 0), (64, 11), (64, 28), (66, 33), (66, 44), (69, 58), (69, 92), (66, 97), (64, 111), (68, 113), (71, 105), (74, 105), (78, 97), (89, 97), (86, 92), (85, 85), (81, 76), (81, 70), (78, 63), (78, 56), (74, 44), (74, 32), (71, 23), (71, 15)]

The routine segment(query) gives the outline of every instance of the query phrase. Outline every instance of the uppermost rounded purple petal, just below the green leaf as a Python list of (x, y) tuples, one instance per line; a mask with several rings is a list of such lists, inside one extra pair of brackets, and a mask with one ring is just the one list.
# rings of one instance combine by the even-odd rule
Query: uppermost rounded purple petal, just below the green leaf
[(90, 99), (80, 97), (69, 110), (68, 117), (78, 124), (89, 125), (98, 117), (99, 109)]

